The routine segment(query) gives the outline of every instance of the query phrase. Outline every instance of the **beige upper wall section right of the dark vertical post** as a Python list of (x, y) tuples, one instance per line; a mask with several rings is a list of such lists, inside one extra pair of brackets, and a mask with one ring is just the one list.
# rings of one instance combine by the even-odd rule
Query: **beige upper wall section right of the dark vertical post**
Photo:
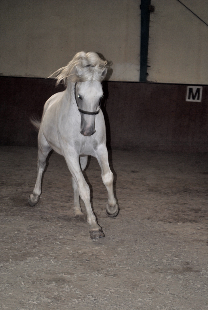
[[(183, 0), (208, 24), (207, 0)], [(148, 81), (208, 84), (208, 26), (177, 0), (152, 0)]]

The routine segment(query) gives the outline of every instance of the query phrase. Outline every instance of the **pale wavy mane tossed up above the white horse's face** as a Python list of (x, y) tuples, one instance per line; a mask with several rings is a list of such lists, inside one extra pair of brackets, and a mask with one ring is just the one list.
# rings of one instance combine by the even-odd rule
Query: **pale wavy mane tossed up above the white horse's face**
[(102, 60), (95, 52), (79, 52), (74, 58), (65, 66), (50, 77), (55, 77), (58, 85), (59, 83), (67, 84), (67, 79), (71, 82), (85, 82), (85, 81), (102, 81), (103, 70), (107, 64), (107, 60)]

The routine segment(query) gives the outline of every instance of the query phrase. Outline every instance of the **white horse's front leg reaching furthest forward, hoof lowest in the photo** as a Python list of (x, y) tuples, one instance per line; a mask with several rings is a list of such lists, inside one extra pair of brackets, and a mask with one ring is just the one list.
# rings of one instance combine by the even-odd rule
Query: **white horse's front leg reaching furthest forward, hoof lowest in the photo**
[(79, 196), (84, 201), (86, 207), (87, 222), (90, 224), (90, 237), (104, 237), (102, 228), (97, 224), (96, 217), (92, 211), (92, 207), (90, 204), (90, 188), (82, 174), (79, 164), (79, 156), (75, 156), (74, 154), (72, 155), (72, 153), (70, 153), (65, 154), (64, 157), (66, 159), (67, 166), (72, 174), (72, 177), (77, 184)]

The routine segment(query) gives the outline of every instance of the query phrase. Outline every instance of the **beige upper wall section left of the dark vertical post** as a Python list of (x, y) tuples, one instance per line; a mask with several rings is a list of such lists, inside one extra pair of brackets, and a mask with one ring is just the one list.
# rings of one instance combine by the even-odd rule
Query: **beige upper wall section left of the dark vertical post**
[(113, 80), (139, 77), (137, 0), (2, 0), (0, 72), (46, 78), (79, 51), (113, 62)]

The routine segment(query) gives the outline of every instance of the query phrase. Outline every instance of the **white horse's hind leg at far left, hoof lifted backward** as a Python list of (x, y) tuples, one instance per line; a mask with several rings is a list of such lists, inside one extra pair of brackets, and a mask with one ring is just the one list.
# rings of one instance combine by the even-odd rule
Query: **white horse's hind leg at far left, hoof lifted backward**
[(39, 144), (38, 148), (37, 179), (33, 193), (30, 194), (30, 197), (28, 198), (30, 206), (35, 206), (36, 203), (38, 203), (39, 201), (39, 197), (41, 194), (42, 174), (46, 166), (46, 158), (52, 149), (46, 141), (44, 144), (45, 145)]

